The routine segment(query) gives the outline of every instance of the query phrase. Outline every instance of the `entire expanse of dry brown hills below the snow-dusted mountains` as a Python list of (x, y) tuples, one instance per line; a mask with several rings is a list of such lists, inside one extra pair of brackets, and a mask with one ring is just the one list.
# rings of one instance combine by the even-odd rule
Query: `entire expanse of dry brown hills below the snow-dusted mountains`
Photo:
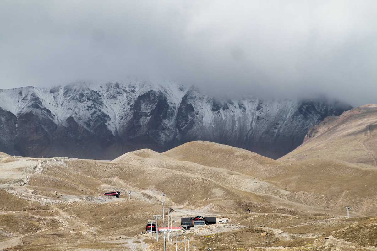
[(0, 152), (0, 250), (163, 250), (145, 234), (162, 192), (177, 225), (230, 219), (187, 231), (191, 250), (377, 250), (376, 141), (369, 105), (325, 119), (279, 160), (207, 141), (113, 161)]

